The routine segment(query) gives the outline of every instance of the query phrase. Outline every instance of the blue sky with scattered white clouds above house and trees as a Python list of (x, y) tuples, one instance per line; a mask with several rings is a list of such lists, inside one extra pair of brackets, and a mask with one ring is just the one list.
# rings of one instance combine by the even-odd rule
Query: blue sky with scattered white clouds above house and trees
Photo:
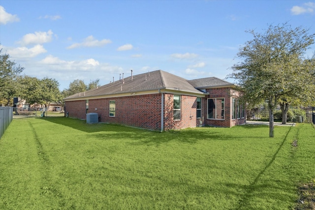
[(54, 78), (60, 90), (75, 79), (105, 85), (131, 69), (224, 79), (252, 39), (246, 30), (285, 22), (315, 33), (315, 1), (1, 0), (0, 48), (23, 74)]

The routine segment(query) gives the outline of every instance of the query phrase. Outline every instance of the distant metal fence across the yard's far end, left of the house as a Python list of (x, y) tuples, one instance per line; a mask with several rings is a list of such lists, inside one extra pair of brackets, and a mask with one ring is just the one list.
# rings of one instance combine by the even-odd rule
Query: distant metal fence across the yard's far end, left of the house
[(22, 119), (30, 119), (30, 118), (57, 118), (64, 117), (63, 110), (46, 110), (45, 108), (40, 109), (26, 109), (21, 110), (18, 108), (13, 108), (13, 119), (14, 120), (22, 120)]

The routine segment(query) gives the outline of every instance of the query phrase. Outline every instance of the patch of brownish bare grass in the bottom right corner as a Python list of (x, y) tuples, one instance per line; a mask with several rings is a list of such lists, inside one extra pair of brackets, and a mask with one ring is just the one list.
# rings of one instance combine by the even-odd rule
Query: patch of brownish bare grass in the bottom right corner
[(295, 210), (315, 210), (315, 180), (299, 186), (299, 200)]

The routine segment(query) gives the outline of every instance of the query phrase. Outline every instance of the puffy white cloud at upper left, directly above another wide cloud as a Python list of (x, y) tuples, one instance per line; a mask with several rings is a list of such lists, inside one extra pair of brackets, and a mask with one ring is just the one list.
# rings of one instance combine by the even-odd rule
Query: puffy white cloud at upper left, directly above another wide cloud
[(22, 45), (29, 44), (43, 44), (46, 42), (51, 42), (53, 36), (53, 31), (48, 30), (47, 32), (35, 31), (34, 33), (28, 33), (23, 36), (22, 40), (18, 43)]

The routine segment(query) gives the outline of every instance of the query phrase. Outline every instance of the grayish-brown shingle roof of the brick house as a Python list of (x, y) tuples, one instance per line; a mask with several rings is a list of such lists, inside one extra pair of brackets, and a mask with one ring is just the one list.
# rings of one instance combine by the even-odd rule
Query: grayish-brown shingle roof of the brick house
[(149, 90), (177, 90), (183, 92), (189, 92), (191, 94), (203, 94), (202, 91), (196, 88), (209, 88), (214, 86), (231, 86), (232, 83), (218, 79), (216, 77), (202, 78), (196, 80), (186, 80), (182, 77), (168, 73), (166, 71), (157, 70), (144, 74), (138, 74), (117, 80), (113, 83), (109, 83), (104, 86), (100, 86), (97, 89), (88, 90), (85, 92), (76, 93), (70, 95), (64, 100), (99, 97), (106, 95), (114, 95), (120, 93), (129, 93), (137, 91), (149, 91)]

